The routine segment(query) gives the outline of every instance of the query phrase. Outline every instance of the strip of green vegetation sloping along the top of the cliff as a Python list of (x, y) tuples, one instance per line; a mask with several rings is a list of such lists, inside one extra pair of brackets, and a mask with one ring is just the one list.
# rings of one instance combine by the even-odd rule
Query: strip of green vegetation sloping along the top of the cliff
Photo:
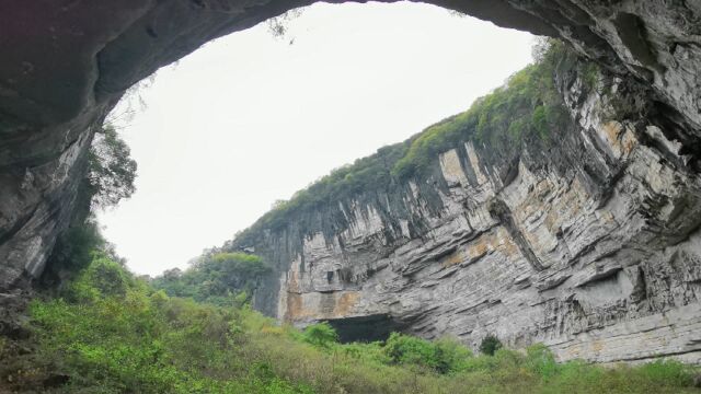
[(439, 153), (466, 141), (493, 152), (514, 151), (531, 138), (549, 142), (570, 119), (555, 88), (555, 70), (572, 67), (575, 55), (554, 39), (540, 42), (533, 55), (532, 65), (478, 99), (468, 111), (432, 125), (406, 141), (333, 170), (289, 200), (276, 204), (237, 239), (245, 242), (262, 229), (280, 229), (296, 212), (425, 177)]

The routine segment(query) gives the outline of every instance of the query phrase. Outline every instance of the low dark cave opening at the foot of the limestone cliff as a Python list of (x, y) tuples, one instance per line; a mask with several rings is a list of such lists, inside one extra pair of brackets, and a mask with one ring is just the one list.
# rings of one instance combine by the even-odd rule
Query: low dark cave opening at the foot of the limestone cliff
[(383, 341), (391, 333), (402, 332), (407, 327), (387, 313), (330, 318), (324, 322), (336, 331), (342, 344)]

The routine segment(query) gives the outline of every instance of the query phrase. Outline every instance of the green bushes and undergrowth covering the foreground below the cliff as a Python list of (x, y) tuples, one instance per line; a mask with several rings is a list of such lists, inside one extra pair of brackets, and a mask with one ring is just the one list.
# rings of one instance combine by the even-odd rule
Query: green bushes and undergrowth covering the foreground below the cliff
[(69, 378), (44, 392), (691, 393), (697, 372), (674, 361), (556, 363), (542, 345), (494, 356), (400, 334), (342, 345), (326, 324), (302, 333), (248, 306), (170, 298), (102, 254), (31, 313), (41, 366), (15, 375), (50, 369)]

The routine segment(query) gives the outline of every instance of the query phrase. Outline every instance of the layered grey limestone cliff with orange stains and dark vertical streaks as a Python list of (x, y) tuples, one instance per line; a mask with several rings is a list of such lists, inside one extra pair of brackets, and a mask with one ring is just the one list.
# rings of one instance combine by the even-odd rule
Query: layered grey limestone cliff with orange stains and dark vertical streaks
[(277, 267), (256, 306), (347, 339), (494, 334), (563, 360), (700, 362), (698, 158), (650, 92), (610, 74), (587, 86), (582, 70), (555, 76), (572, 121), (551, 140), (505, 154), (466, 139), (426, 176), (228, 243)]

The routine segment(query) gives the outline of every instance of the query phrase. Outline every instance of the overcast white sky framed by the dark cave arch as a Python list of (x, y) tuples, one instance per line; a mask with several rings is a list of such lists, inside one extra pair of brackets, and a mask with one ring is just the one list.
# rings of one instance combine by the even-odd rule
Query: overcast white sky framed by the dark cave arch
[[(533, 37), (418, 3), (325, 4), (161, 69), (124, 128), (131, 199), (100, 215), (138, 274), (185, 267), (276, 199), (467, 109), (531, 61)], [(294, 44), (289, 40), (294, 38)]]

